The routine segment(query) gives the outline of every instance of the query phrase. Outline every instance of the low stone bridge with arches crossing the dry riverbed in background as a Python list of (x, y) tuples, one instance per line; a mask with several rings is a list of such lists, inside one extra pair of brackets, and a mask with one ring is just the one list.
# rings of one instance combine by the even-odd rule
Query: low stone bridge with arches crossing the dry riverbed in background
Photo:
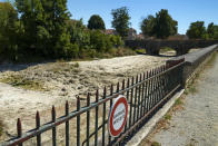
[(126, 46), (145, 48), (148, 55), (158, 56), (164, 47), (172, 48), (177, 56), (188, 53), (191, 48), (205, 48), (218, 43), (218, 40), (126, 40)]

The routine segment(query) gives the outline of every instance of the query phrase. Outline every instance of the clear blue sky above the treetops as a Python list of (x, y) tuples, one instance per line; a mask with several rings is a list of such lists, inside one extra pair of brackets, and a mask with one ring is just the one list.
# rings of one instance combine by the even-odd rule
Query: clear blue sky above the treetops
[(83, 19), (87, 25), (91, 14), (100, 14), (107, 29), (111, 28), (111, 9), (128, 7), (131, 27), (140, 31), (139, 23), (148, 14), (168, 9), (178, 21), (178, 32), (186, 33), (190, 22), (204, 20), (218, 25), (218, 0), (68, 0), (73, 19)]

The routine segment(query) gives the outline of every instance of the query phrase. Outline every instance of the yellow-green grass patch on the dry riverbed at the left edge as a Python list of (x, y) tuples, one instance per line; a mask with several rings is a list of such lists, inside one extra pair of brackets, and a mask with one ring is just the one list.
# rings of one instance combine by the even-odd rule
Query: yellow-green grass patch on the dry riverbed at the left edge
[(20, 75), (11, 75), (6, 78), (1, 78), (0, 81), (12, 85), (13, 87), (21, 87), (23, 89), (29, 89), (29, 90), (39, 90), (39, 91), (46, 90), (42, 82), (27, 79)]

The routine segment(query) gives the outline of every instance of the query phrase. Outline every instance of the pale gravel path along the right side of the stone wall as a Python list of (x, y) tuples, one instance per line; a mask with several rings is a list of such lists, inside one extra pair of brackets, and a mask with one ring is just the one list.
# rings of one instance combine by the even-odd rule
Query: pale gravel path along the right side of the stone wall
[(185, 99), (185, 109), (176, 113), (170, 127), (152, 142), (161, 146), (218, 146), (218, 58), (200, 75), (197, 93)]

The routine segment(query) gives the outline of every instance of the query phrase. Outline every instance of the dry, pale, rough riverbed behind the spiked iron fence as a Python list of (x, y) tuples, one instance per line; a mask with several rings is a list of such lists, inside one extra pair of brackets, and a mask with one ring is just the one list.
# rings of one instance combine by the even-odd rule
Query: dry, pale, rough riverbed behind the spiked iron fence
[[(76, 96), (86, 98), (87, 93), (115, 85), (122, 79), (160, 66), (169, 57), (147, 55), (117, 57), (78, 62), (47, 62), (38, 65), (0, 65), (0, 79), (19, 77), (33, 80), (40, 86), (30, 90), (22, 86), (0, 82), (0, 119), (3, 121), (1, 140), (16, 136), (17, 118), (21, 118), (23, 132), (34, 127), (34, 114), (40, 111), (41, 123), (50, 120), (50, 109), (56, 105), (60, 116), (66, 100), (75, 107)], [(60, 114), (61, 113), (61, 114)]]

